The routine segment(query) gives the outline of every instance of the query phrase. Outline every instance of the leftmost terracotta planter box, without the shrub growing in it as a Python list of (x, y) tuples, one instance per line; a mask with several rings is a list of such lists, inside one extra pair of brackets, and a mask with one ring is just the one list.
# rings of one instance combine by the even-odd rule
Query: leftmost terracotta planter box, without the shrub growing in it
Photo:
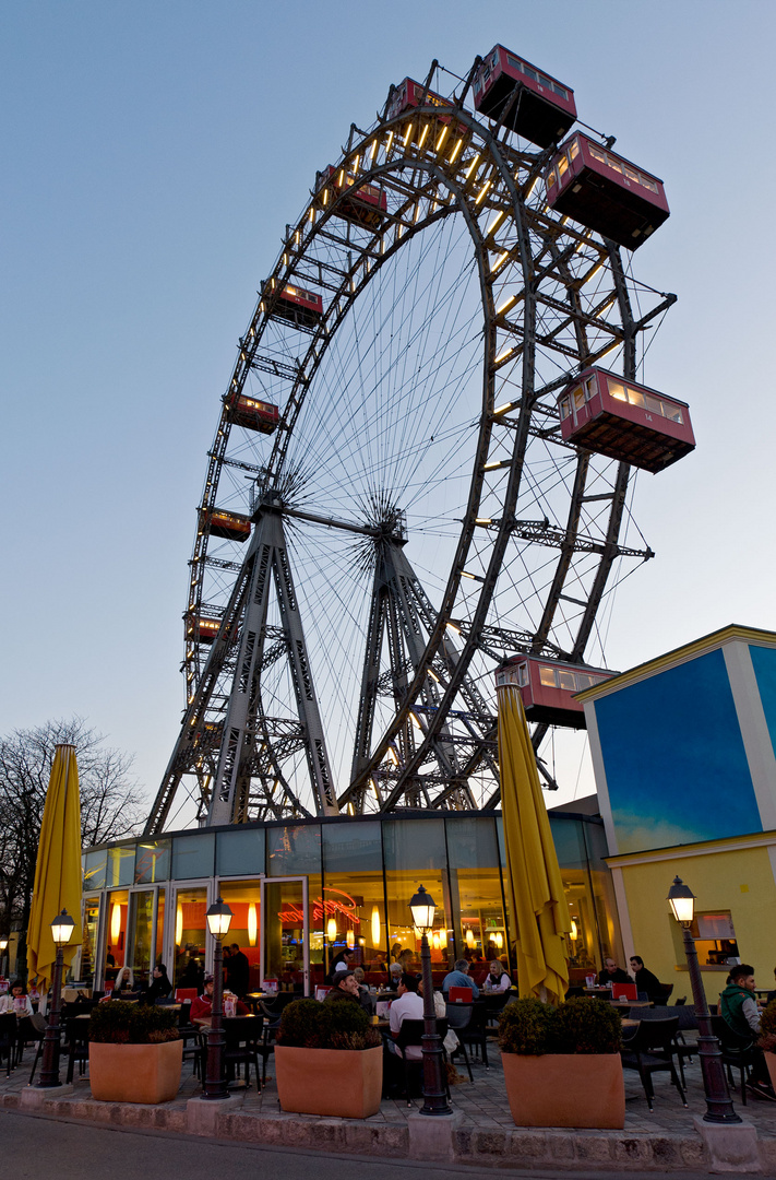
[(88, 1080), (99, 1102), (171, 1102), (180, 1089), (183, 1041), (88, 1047)]

